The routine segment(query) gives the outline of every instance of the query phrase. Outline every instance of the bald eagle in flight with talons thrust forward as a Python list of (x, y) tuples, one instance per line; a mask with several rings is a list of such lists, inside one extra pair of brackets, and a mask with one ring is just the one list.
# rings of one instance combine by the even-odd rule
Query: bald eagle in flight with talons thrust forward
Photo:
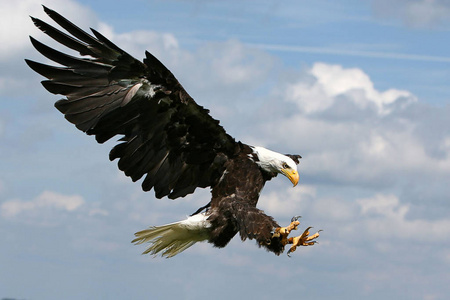
[(98, 143), (121, 136), (110, 152), (118, 167), (144, 191), (157, 198), (176, 199), (211, 188), (211, 200), (186, 220), (137, 232), (132, 242), (149, 243), (144, 253), (172, 257), (199, 241), (225, 247), (237, 234), (254, 239), (279, 255), (297, 246), (313, 245), (318, 233), (297, 229), (297, 217), (287, 227), (256, 208), (264, 184), (282, 174), (297, 185), (300, 155), (283, 155), (235, 141), (209, 111), (198, 105), (174, 75), (152, 54), (143, 62), (94, 29), (86, 33), (57, 12), (44, 11), (65, 31), (40, 19), (33, 23), (62, 45), (79, 52), (74, 57), (52, 49), (33, 37), (42, 55), (58, 63), (50, 66), (26, 60), (47, 78), (42, 85), (65, 96), (55, 107), (79, 130)]

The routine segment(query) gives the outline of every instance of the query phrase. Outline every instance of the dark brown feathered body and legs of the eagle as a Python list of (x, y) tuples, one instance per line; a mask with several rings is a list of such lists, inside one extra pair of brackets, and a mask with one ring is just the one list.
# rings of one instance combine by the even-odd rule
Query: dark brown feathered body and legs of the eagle
[(214, 229), (210, 241), (217, 247), (224, 247), (238, 228), (243, 240), (256, 238), (265, 243), (270, 240), (271, 231), (278, 227), (271, 217), (256, 208), (265, 182), (276, 175), (264, 172), (257, 165), (253, 153), (248, 153), (249, 146), (242, 145), (242, 148), (235, 159), (226, 162), (224, 175), (211, 192), (208, 220)]

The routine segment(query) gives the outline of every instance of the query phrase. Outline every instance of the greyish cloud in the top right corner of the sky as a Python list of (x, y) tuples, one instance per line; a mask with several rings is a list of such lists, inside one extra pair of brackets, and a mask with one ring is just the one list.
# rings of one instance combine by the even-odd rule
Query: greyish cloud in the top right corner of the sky
[(373, 0), (375, 13), (399, 18), (414, 27), (441, 25), (450, 20), (450, 2), (446, 0)]

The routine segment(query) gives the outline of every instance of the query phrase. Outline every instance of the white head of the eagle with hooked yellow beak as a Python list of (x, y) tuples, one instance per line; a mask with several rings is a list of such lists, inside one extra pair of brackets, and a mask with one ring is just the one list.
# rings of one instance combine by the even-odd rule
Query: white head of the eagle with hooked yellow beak
[[(292, 158), (263, 147), (252, 148), (258, 157), (256, 163), (262, 170), (267, 173), (283, 174), (289, 178), (294, 186), (297, 185), (300, 176), (297, 171), (297, 164)], [(297, 158), (299, 157), (297, 156)]]

